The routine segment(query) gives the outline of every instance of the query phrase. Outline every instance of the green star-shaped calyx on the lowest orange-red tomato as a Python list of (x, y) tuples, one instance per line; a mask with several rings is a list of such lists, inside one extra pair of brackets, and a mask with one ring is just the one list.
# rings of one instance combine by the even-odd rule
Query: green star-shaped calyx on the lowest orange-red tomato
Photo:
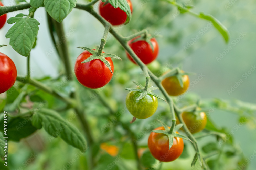
[(173, 146), (173, 138), (174, 137), (182, 138), (182, 139), (188, 140), (193, 143), (193, 141), (190, 140), (188, 137), (176, 133), (183, 126), (183, 124), (176, 125), (173, 129), (173, 132), (170, 132), (171, 130), (164, 122), (162, 122), (160, 120), (157, 120), (157, 121), (162, 124), (162, 126), (164, 127), (165, 130), (153, 130), (151, 132), (165, 134), (169, 139), (169, 149), (171, 149), (171, 147)]

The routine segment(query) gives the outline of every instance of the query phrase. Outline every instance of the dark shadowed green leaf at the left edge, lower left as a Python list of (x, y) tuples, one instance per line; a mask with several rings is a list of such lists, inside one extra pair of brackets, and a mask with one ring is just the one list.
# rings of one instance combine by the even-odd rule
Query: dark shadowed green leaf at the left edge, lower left
[[(0, 118), (0, 127), (4, 127), (4, 116)], [(0, 131), (3, 132), (4, 128), (0, 128)], [(25, 138), (37, 129), (32, 126), (31, 120), (29, 117), (10, 117), (8, 116), (8, 133), (7, 136), (9, 140), (20, 141), (20, 139)]]

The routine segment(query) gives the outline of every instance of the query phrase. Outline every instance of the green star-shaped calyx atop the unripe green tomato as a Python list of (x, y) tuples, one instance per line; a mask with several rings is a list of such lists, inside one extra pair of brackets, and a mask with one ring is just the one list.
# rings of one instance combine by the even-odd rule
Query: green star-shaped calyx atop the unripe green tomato
[(140, 92), (141, 94), (137, 98), (137, 100), (140, 100), (140, 99), (144, 98), (146, 95), (152, 95), (152, 96), (157, 97), (158, 99), (166, 101), (162, 97), (160, 97), (157, 94), (151, 92), (152, 90), (158, 89), (158, 87), (153, 87), (153, 86), (152, 87), (147, 87), (147, 86), (143, 87), (140, 83), (137, 83), (137, 82), (134, 82), (134, 81), (133, 81), (133, 83), (137, 85), (137, 88), (126, 88), (125, 90)]

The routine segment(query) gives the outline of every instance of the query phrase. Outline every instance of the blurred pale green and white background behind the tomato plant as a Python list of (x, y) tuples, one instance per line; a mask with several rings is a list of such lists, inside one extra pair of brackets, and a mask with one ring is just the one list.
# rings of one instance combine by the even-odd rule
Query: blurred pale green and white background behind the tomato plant
[[(2, 2), (5, 6), (15, 4), (14, 0), (2, 0)], [(78, 2), (86, 3), (87, 1), (80, 0)], [(116, 27), (116, 30), (120, 34), (127, 36), (146, 28), (152, 35), (156, 35), (160, 46), (160, 53), (157, 62), (154, 62), (149, 67), (155, 71), (157, 76), (160, 76), (171, 67), (176, 67), (180, 63), (182, 63), (184, 71), (197, 73), (197, 75), (190, 76), (190, 81), (194, 81), (194, 85), (190, 86), (191, 90), (185, 97), (200, 96), (205, 101), (212, 98), (220, 98), (231, 102), (238, 99), (255, 104), (256, 2), (252, 0), (184, 0), (178, 2), (194, 6), (191, 9), (194, 12), (205, 12), (217, 18), (230, 32), (229, 43), (225, 43), (221, 34), (208, 21), (195, 18), (187, 13), (180, 14), (176, 7), (166, 2), (155, 0), (132, 0), (134, 10), (131, 22), (127, 25)], [(97, 7), (98, 4), (95, 5), (95, 8)], [(21, 12), (24, 14), (28, 13), (27, 10), (12, 12), (8, 14), (8, 18)], [(39, 8), (35, 12), (34, 18), (40, 22), (40, 30), (37, 36), (37, 46), (31, 51), (31, 75), (34, 78), (46, 76), (57, 78), (62, 68), (50, 39), (44, 8)], [(69, 44), (68, 50), (72, 66), (74, 66), (77, 56), (83, 51), (76, 47), (85, 46), (93, 48), (95, 45), (99, 45), (104, 28), (90, 14), (78, 9), (73, 9), (70, 15), (64, 19), (63, 24), (67, 33), (66, 40)], [(26, 57), (16, 53), (9, 45), (9, 39), (5, 38), (5, 34), (10, 27), (11, 25), (6, 24), (0, 30), (0, 37), (2, 37), (0, 44), (8, 45), (8, 47), (2, 47), (1, 52), (8, 55), (14, 61), (19, 75), (25, 75)], [(123, 59), (123, 61), (114, 61), (116, 76), (113, 76), (113, 80), (103, 89), (106, 97), (111, 98), (110, 101), (113, 107), (117, 107), (118, 102), (116, 101), (124, 103), (125, 96), (127, 95), (127, 91), (124, 89), (133, 88), (134, 84), (132, 81), (144, 83), (143, 75), (141, 75), (140, 68), (127, 59), (124, 49), (111, 35), (109, 35), (104, 51), (116, 54)], [(201, 80), (198, 80), (199, 75), (203, 77)], [(242, 83), (234, 86), (240, 79), (242, 79)], [(233, 90), (232, 87), (237, 88)], [(231, 92), (228, 92), (228, 90)], [(157, 94), (160, 93), (158, 92)], [(97, 116), (100, 116), (104, 109), (101, 108), (100, 104), (97, 104), (96, 99), (89, 98), (88, 100), (93, 100), (95, 104), (95, 106), (92, 106), (92, 104), (85, 102), (84, 105), (88, 110), (91, 126), (96, 127)], [(165, 104), (165, 102), (159, 101), (158, 113), (166, 110), (164, 109), (166, 108)], [(132, 129), (142, 130), (143, 126), (145, 127), (146, 124), (154, 121), (156, 118), (157, 115), (155, 114), (150, 120), (138, 120), (140, 125), (136, 124)], [(210, 114), (210, 118), (215, 122), (216, 126), (225, 127), (228, 132), (234, 130), (234, 143), (241, 148), (245, 158), (256, 154), (255, 112), (253, 117), (250, 118), (249, 123), (239, 126), (238, 130), (235, 128), (240, 119), (240, 116), (237, 114), (214, 110)], [(132, 116), (128, 111), (125, 111), (121, 119), (129, 121), (132, 119)], [(98, 129), (99, 132), (96, 131), (95, 134), (101, 134), (100, 129)], [(44, 136), (45, 140), (48, 139), (47, 134), (42, 132), (42, 130), (37, 133)], [(149, 133), (139, 141), (139, 145), (147, 145), (148, 135)], [(204, 145), (213, 139), (209, 137), (199, 140), (199, 145)], [(9, 143), (10, 169), (18, 169), (19, 167), (24, 169), (45, 169), (43, 167), (54, 170), (65, 169), (64, 165), (72, 159), (72, 155), (78, 152), (78, 150), (66, 146), (59, 138), (54, 139), (53, 142), (43, 141), (42, 145), (44, 147), (38, 150), (36, 149), (38, 146), (33, 146), (32, 143), (29, 139), (24, 139), (22, 143)], [(194, 150), (188, 142), (185, 143), (188, 144), (188, 153), (191, 153), (189, 157), (187, 159), (178, 159), (172, 163), (164, 163), (162, 169), (192, 169), (190, 164), (194, 156)], [(39, 144), (40, 142), (34, 145)], [(38, 154), (36, 159), (33, 159), (32, 163), (28, 164), (24, 163), (30, 157), (30, 152), (27, 151), (27, 148), (36, 150), (35, 153)], [(132, 165), (135, 165), (132, 158), (129, 158), (127, 155), (125, 157), (125, 154), (128, 154), (126, 152), (129, 152), (129, 148), (126, 148), (127, 151), (122, 148), (124, 146), (119, 147), (120, 154), (123, 155), (123, 158), (127, 157), (127, 160), (123, 161), (124, 164), (129, 165), (131, 162)], [(51, 161), (49, 161), (50, 159)], [(45, 164), (46, 160), (48, 160), (47, 164)], [(67, 169), (85, 169), (81, 166), (86, 162), (86, 158), (82, 156), (79, 158), (79, 161)], [(256, 159), (251, 159), (249, 162), (249, 164), (246, 164), (246, 168), (254, 170)], [(237, 164), (232, 165), (232, 161), (231, 163), (225, 162), (224, 164), (229, 164), (229, 166), (223, 165), (222, 168), (225, 170), (239, 169)], [(132, 165), (130, 165), (131, 169)], [(102, 168), (99, 167), (99, 169)]]

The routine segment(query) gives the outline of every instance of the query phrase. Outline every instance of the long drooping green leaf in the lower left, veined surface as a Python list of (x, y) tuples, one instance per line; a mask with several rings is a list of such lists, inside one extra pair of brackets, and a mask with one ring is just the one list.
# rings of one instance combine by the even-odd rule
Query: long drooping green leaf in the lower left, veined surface
[(82, 151), (87, 148), (86, 140), (81, 132), (72, 124), (65, 123), (66, 121), (53, 110), (41, 108), (38, 113), (33, 115), (32, 122), (37, 128), (42, 126), (49, 135), (59, 136), (75, 148)]

